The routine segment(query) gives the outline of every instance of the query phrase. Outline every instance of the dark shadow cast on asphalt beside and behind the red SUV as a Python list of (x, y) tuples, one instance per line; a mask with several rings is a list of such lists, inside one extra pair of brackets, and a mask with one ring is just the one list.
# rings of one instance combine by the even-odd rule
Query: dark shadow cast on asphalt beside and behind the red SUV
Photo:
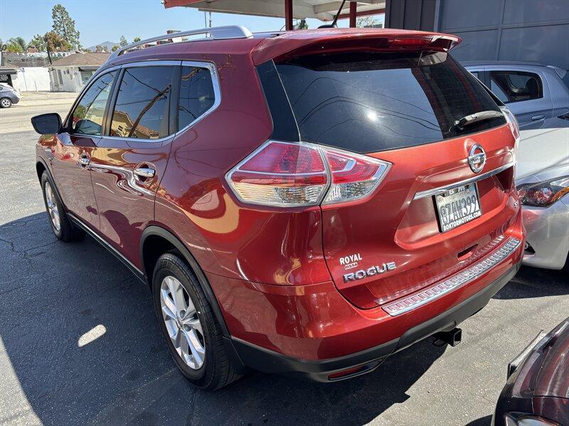
[[(407, 400), (444, 352), (427, 340), (351, 381), (253, 373), (204, 393), (176, 371), (149, 290), (95, 241), (61, 243), (33, 214), (0, 226), (0, 256), (4, 381), (45, 425), (361, 425)], [(104, 334), (80, 346), (95, 327)]]

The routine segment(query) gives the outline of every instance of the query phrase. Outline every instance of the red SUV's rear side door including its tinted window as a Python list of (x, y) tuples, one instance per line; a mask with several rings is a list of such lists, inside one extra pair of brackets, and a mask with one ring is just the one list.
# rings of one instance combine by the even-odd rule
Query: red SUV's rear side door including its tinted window
[(154, 219), (154, 196), (174, 138), (180, 61), (124, 65), (92, 151), (100, 234), (137, 268), (139, 240)]

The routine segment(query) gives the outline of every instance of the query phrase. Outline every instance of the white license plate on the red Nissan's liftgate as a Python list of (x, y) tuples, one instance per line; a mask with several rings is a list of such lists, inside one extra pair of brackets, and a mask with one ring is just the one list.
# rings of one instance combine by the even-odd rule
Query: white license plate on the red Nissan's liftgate
[(441, 232), (450, 231), (482, 216), (476, 183), (469, 183), (435, 195)]

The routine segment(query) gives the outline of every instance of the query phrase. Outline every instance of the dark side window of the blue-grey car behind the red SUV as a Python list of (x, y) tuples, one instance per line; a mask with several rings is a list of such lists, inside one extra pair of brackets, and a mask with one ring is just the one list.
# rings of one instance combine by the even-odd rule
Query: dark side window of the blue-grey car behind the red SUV
[(541, 78), (533, 72), (490, 71), (490, 86), (504, 103), (543, 97)]

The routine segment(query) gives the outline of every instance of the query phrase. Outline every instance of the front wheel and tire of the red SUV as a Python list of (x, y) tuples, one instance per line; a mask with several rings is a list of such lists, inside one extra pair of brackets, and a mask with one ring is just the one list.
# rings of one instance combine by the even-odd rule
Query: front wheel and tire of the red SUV
[(53, 182), (48, 177), (48, 173), (45, 171), (41, 175), (41, 192), (53, 234), (65, 242), (83, 239), (85, 232), (71, 223), (58, 196), (58, 192), (55, 191), (55, 185), (53, 185)]

